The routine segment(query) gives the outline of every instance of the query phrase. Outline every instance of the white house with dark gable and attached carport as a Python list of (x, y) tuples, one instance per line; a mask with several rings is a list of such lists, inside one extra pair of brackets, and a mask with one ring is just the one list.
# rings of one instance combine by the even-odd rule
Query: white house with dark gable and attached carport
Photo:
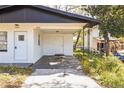
[(27, 64), (44, 55), (73, 55), (73, 33), (93, 18), (45, 6), (0, 6), (0, 63)]

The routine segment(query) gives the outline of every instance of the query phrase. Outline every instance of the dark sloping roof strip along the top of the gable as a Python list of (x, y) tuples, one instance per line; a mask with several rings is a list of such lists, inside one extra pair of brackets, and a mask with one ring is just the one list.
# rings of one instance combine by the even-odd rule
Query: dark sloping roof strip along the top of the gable
[[(15, 5), (2, 5), (2, 6), (0, 6), (0, 10), (5, 9), (5, 8), (9, 8), (9, 7), (12, 7), (12, 6), (15, 6)], [(82, 15), (78, 15), (78, 14), (74, 14), (74, 13), (65, 12), (65, 11), (62, 11), (62, 10), (46, 7), (46, 6), (43, 6), (43, 5), (26, 5), (26, 6), (36, 7), (36, 8), (48, 11), (48, 12), (53, 12), (53, 13), (56, 13), (56, 14), (60, 14), (60, 15), (63, 15), (63, 16), (70, 17), (70, 18), (78, 19), (78, 20), (81, 20), (81, 21), (86, 21), (86, 22), (94, 24), (94, 25), (100, 24), (100, 21), (97, 20), (97, 19), (82, 16)]]

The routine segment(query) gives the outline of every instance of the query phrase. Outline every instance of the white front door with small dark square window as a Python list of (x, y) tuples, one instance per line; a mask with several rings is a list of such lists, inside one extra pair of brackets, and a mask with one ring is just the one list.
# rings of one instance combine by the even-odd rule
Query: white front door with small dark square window
[(27, 60), (27, 32), (15, 32), (15, 60)]

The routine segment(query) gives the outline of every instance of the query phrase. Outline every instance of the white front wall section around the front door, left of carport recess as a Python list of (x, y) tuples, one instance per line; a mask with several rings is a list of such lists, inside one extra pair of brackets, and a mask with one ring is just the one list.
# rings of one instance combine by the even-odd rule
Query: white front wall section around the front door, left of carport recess
[[(26, 28), (14, 28), (12, 25), (1, 26), (0, 31), (7, 32), (7, 52), (0, 52), (0, 63), (32, 63), (33, 61), (33, 30)], [(15, 61), (14, 59), (14, 33), (16, 31), (27, 32), (27, 51), (28, 59), (26, 61)]]

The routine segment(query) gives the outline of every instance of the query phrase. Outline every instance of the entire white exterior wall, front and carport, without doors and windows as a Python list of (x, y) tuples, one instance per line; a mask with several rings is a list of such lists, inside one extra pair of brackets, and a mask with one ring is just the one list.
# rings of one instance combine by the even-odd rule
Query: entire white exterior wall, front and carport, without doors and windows
[[(64, 54), (73, 55), (73, 35), (72, 34), (46, 34), (41, 30), (32, 29), (0, 29), (0, 31), (7, 31), (7, 52), (0, 52), (0, 63), (34, 63), (39, 60), (43, 55), (51, 55), (47, 48), (45, 39), (50, 36), (62, 36), (64, 40)], [(28, 36), (28, 60), (15, 61), (14, 60), (14, 33), (16, 31), (26, 31)], [(38, 34), (40, 34), (40, 46), (38, 45)], [(51, 41), (50, 41), (51, 42)], [(49, 54), (48, 54), (49, 52)]]

